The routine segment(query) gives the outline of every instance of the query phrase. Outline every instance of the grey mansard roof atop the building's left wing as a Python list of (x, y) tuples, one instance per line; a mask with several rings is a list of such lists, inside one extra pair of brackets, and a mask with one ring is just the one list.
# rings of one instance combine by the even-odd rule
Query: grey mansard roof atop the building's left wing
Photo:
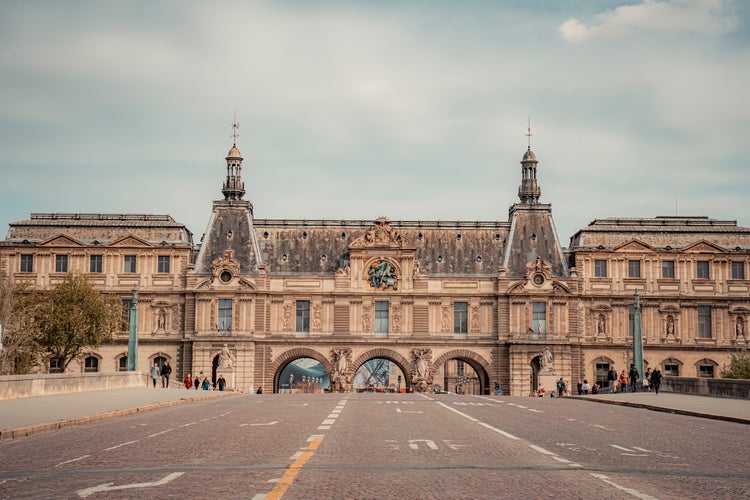
[(65, 235), (87, 245), (107, 245), (127, 236), (150, 244), (192, 247), (193, 235), (169, 215), (101, 213), (33, 213), (8, 224), (3, 244), (38, 244)]

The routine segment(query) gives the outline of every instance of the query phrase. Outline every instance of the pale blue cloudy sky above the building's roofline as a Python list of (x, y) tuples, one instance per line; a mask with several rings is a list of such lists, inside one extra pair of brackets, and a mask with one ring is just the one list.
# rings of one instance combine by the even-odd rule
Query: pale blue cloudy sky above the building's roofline
[(256, 218), (750, 226), (750, 2), (0, 3), (0, 236), (169, 214), (199, 241), (231, 124)]

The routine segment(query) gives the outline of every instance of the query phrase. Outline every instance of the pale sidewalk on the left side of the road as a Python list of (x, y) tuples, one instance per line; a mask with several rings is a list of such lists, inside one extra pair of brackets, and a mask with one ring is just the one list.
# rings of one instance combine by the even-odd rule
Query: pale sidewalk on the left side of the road
[(236, 392), (130, 388), (0, 400), (0, 439), (130, 415)]

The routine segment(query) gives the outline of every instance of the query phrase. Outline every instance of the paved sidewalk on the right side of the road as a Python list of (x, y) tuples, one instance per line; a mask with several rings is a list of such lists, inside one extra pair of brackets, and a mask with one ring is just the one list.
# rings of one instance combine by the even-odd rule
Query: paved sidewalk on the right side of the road
[(674, 392), (660, 392), (659, 394), (628, 392), (573, 397), (597, 403), (647, 408), (667, 413), (750, 424), (750, 400), (748, 399), (713, 398)]

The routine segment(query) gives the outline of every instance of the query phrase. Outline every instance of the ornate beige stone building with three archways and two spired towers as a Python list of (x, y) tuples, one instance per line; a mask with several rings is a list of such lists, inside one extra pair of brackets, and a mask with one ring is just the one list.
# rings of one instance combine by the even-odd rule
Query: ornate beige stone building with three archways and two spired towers
[[(373, 359), (416, 391), (601, 380), (631, 362), (635, 290), (646, 366), (716, 377), (747, 344), (750, 229), (736, 222), (595, 220), (564, 249), (530, 148), (505, 221), (256, 219), (242, 161), (233, 146), (198, 244), (169, 216), (32, 214), (10, 224), (0, 271), (37, 289), (85, 272), (125, 305), (137, 284), (138, 369), (170, 360), (178, 378), (222, 373), (241, 391), (278, 391), (302, 358), (338, 391)], [(75, 369), (126, 356), (118, 332)]]

